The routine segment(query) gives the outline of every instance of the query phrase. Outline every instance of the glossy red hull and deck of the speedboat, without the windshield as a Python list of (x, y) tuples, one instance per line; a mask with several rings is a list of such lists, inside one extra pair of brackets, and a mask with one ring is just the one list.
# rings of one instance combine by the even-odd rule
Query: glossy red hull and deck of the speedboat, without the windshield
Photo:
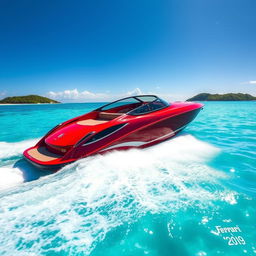
[[(95, 154), (146, 148), (168, 140), (182, 131), (193, 121), (202, 106), (198, 103), (174, 103), (169, 108), (146, 115), (122, 115), (108, 122), (101, 121), (98, 125), (84, 125), (83, 120), (97, 115), (93, 111), (57, 126), (34, 147), (25, 150), (23, 155), (41, 169), (58, 170)], [(114, 127), (116, 128), (113, 132), (104, 135), (105, 131), (113, 130)], [(90, 142), (95, 134), (103, 135)]]

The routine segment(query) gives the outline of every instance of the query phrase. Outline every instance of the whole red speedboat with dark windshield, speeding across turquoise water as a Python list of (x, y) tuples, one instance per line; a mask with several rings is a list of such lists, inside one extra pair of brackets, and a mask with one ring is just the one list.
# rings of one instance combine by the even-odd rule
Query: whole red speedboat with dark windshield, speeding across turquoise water
[(124, 98), (57, 125), (23, 154), (40, 168), (58, 169), (110, 150), (148, 147), (180, 132), (202, 107), (154, 95)]

